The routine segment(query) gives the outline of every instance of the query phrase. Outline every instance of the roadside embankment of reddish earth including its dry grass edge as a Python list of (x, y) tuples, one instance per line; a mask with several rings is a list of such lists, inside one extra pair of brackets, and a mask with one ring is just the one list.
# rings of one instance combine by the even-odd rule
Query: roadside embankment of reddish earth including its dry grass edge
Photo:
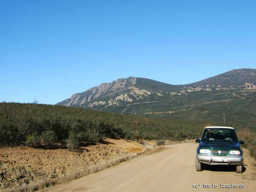
[(0, 148), (0, 190), (19, 187), (27, 191), (71, 181), (129, 160), (152, 149), (155, 143), (105, 139), (75, 151), (61, 146), (55, 149), (3, 147)]

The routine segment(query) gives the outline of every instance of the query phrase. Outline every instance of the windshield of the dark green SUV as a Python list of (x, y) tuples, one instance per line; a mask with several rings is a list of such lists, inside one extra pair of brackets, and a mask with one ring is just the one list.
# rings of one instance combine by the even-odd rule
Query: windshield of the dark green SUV
[(234, 129), (206, 128), (203, 133), (203, 141), (226, 141), (237, 142)]

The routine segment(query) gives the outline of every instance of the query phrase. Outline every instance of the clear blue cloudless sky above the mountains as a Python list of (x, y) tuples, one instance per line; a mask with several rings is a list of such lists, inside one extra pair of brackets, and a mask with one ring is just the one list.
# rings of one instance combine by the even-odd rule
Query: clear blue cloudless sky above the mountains
[(0, 101), (55, 104), (128, 76), (256, 68), (256, 1), (1, 0)]

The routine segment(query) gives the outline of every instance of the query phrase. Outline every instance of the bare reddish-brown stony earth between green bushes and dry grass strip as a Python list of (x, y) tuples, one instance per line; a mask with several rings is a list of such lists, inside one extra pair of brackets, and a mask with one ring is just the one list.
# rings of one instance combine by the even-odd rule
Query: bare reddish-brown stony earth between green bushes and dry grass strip
[[(147, 143), (155, 145), (153, 141)], [(64, 147), (3, 147), (0, 148), (0, 190), (26, 185), (44, 177), (54, 180), (88, 165), (144, 150), (145, 145), (124, 139), (105, 139), (104, 144), (81, 147), (77, 151), (69, 151)]]

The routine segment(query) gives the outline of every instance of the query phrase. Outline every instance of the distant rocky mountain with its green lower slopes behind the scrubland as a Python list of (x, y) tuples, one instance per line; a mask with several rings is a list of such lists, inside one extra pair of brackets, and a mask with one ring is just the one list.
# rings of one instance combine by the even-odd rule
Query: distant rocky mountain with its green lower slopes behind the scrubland
[(251, 121), (256, 117), (255, 96), (256, 69), (235, 69), (187, 85), (137, 77), (118, 79), (76, 93), (57, 105), (188, 119), (220, 120), (226, 113), (232, 118)]

